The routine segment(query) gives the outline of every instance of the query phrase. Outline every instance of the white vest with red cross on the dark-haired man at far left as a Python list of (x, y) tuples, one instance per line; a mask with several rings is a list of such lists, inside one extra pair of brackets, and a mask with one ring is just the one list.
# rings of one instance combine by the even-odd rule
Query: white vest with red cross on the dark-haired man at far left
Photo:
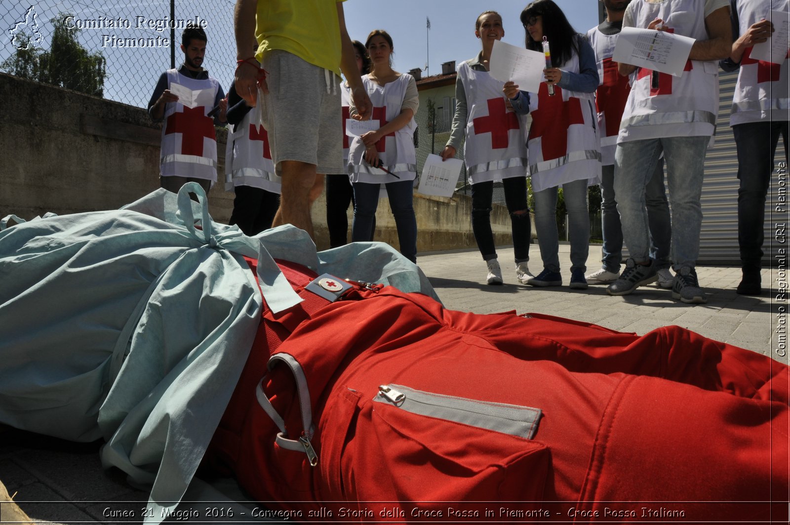
[(187, 108), (179, 102), (164, 108), (162, 126), (161, 176), (209, 179), (216, 182), (216, 134), (209, 111), (214, 107), (220, 83), (209, 77), (196, 80), (178, 70), (167, 70), (167, 89), (180, 84), (194, 92), (198, 105)]

